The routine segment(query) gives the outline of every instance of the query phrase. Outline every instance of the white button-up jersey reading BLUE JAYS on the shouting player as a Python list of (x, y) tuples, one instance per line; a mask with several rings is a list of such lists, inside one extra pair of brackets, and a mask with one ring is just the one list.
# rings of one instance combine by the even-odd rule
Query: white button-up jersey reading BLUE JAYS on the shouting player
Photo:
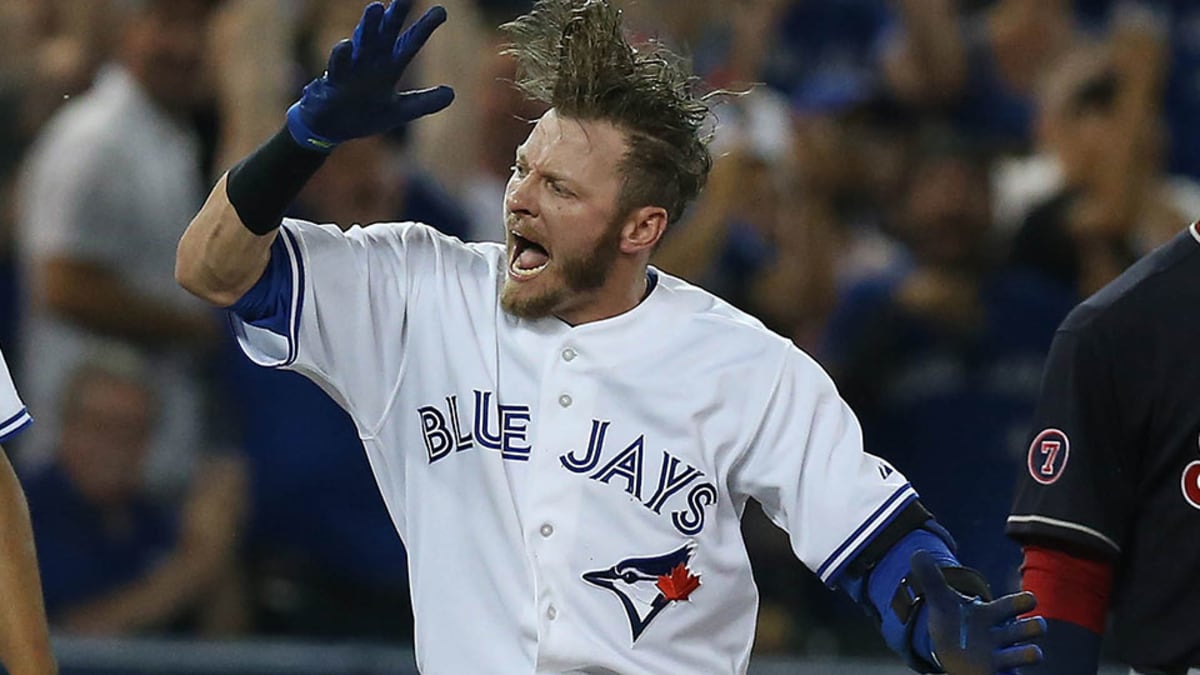
[(571, 327), (500, 309), (499, 244), (415, 223), (280, 237), (287, 334), (235, 319), (239, 340), (354, 418), (425, 671), (743, 673), (746, 500), (829, 581), (916, 498), (820, 366), (678, 279)]

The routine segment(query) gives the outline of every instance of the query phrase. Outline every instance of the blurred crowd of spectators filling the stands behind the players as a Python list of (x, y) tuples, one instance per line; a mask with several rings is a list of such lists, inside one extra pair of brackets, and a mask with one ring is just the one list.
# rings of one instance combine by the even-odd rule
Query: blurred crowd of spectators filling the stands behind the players
[[(821, 362), (959, 557), (1015, 589), (1003, 520), (1052, 333), (1200, 216), (1200, 0), (613, 1), (714, 91), (713, 173), (654, 264)], [(529, 2), (440, 4), (406, 85), (454, 106), (338, 149), (293, 215), (503, 237), (541, 110), (496, 28)], [(0, 2), (0, 346), (37, 418), (14, 459), (59, 631), (410, 640), (349, 419), (173, 277), (211, 184), (360, 11)], [(882, 651), (755, 509), (745, 537), (760, 651)]]

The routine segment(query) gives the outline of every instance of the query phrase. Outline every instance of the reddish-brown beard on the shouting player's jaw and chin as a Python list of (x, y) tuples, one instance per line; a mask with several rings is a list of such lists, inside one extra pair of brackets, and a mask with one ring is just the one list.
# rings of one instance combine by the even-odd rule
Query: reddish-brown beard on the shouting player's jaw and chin
[[(620, 225), (617, 220), (608, 223), (600, 241), (587, 253), (551, 258), (550, 268), (540, 275), (541, 279), (521, 283), (505, 277), (500, 288), (500, 307), (520, 318), (545, 318), (569, 305), (574, 297), (602, 287), (617, 262)], [(538, 283), (545, 287), (540, 291), (529, 288)]]

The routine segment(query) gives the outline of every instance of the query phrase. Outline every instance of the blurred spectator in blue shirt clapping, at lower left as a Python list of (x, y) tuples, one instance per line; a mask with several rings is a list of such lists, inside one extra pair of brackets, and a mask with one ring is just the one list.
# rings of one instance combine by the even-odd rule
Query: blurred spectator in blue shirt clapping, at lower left
[(65, 392), (53, 464), (25, 480), (52, 626), (86, 634), (245, 627), (235, 532), (240, 470), (214, 460), (182, 509), (140, 479), (158, 417), (148, 363), (107, 350), (80, 362)]

